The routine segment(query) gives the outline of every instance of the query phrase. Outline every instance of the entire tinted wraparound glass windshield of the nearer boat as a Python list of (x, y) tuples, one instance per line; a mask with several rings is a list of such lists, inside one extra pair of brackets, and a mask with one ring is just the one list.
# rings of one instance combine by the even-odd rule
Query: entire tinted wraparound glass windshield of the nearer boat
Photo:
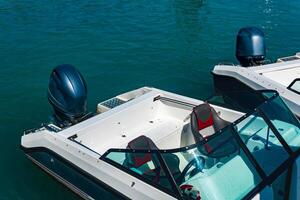
[[(242, 199), (299, 150), (299, 127), (275, 95), (252, 114), (195, 145), (173, 150), (109, 150), (103, 157), (169, 194), (176, 185), (182, 196)], [(128, 164), (129, 158), (138, 165)], [(273, 188), (274, 195), (277, 189)]]

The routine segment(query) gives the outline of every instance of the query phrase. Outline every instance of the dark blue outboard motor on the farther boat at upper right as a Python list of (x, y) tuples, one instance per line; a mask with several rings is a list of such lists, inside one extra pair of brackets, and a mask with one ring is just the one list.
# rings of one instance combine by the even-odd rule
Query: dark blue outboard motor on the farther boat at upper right
[(240, 29), (236, 37), (235, 55), (244, 67), (261, 65), (266, 57), (264, 33), (256, 27)]

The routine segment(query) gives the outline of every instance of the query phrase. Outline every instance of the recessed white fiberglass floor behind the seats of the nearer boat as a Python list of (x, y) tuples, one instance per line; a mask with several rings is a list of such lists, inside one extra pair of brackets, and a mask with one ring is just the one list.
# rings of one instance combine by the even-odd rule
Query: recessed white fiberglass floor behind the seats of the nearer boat
[[(153, 98), (112, 112), (98, 123), (78, 131), (76, 141), (100, 154), (110, 148), (126, 148), (128, 142), (140, 135), (158, 142), (160, 148), (180, 147), (184, 119), (191, 111), (153, 101)], [(164, 142), (166, 140), (168, 142)]]

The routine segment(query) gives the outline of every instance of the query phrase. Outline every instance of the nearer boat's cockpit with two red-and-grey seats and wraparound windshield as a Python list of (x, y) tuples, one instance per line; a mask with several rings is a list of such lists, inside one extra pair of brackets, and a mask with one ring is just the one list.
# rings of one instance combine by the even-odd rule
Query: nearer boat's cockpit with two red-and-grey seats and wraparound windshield
[(101, 159), (179, 199), (249, 199), (288, 195), (300, 150), (300, 124), (277, 93), (233, 123), (204, 103), (193, 108), (196, 143), (161, 149), (146, 135)]

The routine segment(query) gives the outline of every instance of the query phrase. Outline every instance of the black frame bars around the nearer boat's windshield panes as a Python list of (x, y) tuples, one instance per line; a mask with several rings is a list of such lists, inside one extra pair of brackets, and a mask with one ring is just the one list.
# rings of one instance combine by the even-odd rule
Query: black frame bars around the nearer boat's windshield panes
[[(263, 102), (261, 105), (270, 103), (271, 101), (273, 101), (277, 97), (279, 97), (279, 94), (276, 91), (274, 91), (274, 95), (271, 96), (269, 99), (267, 99), (265, 102)], [(220, 134), (222, 134), (224, 132), (225, 129), (231, 129), (235, 141), (238, 143), (238, 145), (241, 147), (241, 149), (245, 152), (246, 157), (252, 163), (252, 165), (254, 166), (255, 170), (257, 171), (257, 173), (259, 174), (259, 176), (261, 177), (261, 180), (262, 180), (250, 192), (248, 192), (248, 194), (246, 194), (243, 197), (243, 199), (253, 198), (257, 193), (259, 193), (267, 185), (270, 185), (278, 176), (280, 176), (286, 170), (289, 170), (288, 172), (290, 173), (292, 164), (294, 163), (295, 159), (300, 155), (300, 148), (298, 148), (294, 152), (291, 150), (291, 148), (286, 143), (286, 141), (284, 140), (284, 138), (281, 136), (281, 134), (278, 132), (278, 130), (274, 127), (274, 125), (272, 124), (272, 122), (270, 121), (270, 119), (268, 119), (268, 117), (264, 113), (264, 111), (259, 108), (259, 107), (261, 107), (261, 105), (259, 105), (252, 112), (246, 113), (245, 115), (243, 115), (242, 117), (240, 117), (239, 119), (237, 119), (236, 121), (234, 121), (233, 123), (229, 124), (228, 126), (224, 127), (223, 129), (219, 130), (218, 132), (214, 133), (209, 138), (207, 138), (205, 140), (202, 140), (202, 141), (200, 141), (198, 143), (195, 143), (195, 144), (192, 144), (192, 145), (189, 145), (189, 146), (185, 146), (185, 147), (181, 147), (181, 148), (174, 148), (174, 149), (134, 150), (134, 149), (112, 148), (112, 149), (109, 149), (108, 151), (106, 151), (100, 157), (100, 159), (104, 160), (104, 161), (108, 162), (109, 164), (111, 164), (111, 165), (113, 165), (113, 166), (115, 166), (115, 167), (117, 167), (117, 168), (125, 171), (126, 173), (129, 173), (130, 175), (135, 176), (135, 177), (139, 178), (140, 180), (142, 180), (142, 181), (144, 181), (144, 182), (146, 182), (146, 183), (148, 183), (148, 184), (150, 184), (150, 185), (152, 185), (152, 186), (154, 186), (154, 187), (156, 187), (156, 188), (158, 188), (158, 189), (160, 189), (160, 190), (168, 193), (169, 195), (171, 195), (173, 197), (182, 199), (182, 195), (180, 194), (179, 188), (178, 188), (178, 186), (177, 186), (177, 184), (176, 184), (176, 182), (174, 180), (173, 175), (170, 173), (170, 170), (169, 170), (167, 164), (165, 163), (165, 161), (164, 161), (164, 159), (162, 157), (162, 154), (164, 154), (164, 153), (177, 153), (177, 152), (182, 152), (182, 151), (187, 151), (187, 150), (190, 150), (190, 149), (197, 148), (198, 146), (204, 145), (204, 144), (208, 143), (209, 141), (213, 140), (214, 138), (218, 137)], [(234, 128), (235, 125), (237, 125), (238, 123), (240, 123), (241, 121), (243, 121), (244, 119), (246, 119), (247, 117), (249, 117), (250, 115), (252, 115), (254, 113), (258, 113), (263, 118), (263, 120), (272, 129), (272, 131), (274, 132), (274, 134), (276, 135), (276, 137), (278, 138), (278, 140), (282, 144), (283, 148), (286, 150), (286, 152), (289, 155), (289, 157), (281, 165), (279, 165), (270, 175), (266, 175), (266, 173), (263, 171), (263, 169), (258, 164), (257, 160), (250, 153), (248, 147), (244, 144), (244, 142), (242, 141), (242, 139), (239, 136), (238, 132)], [(293, 113), (291, 113), (291, 114), (293, 114)], [(107, 155), (109, 153), (112, 153), (112, 152), (153, 153), (153, 154), (157, 155), (158, 158), (159, 158), (159, 162), (162, 165), (163, 170), (165, 171), (165, 173), (166, 173), (166, 175), (167, 175), (167, 177), (169, 179), (169, 182), (170, 182), (170, 184), (171, 184), (171, 186), (172, 186), (175, 194), (172, 193), (172, 192), (170, 192), (170, 191), (168, 191), (168, 190), (166, 190), (165, 188), (159, 186), (158, 184), (151, 183), (150, 181), (146, 180), (143, 176), (141, 176), (139, 174), (136, 174), (136, 173), (130, 171), (129, 169), (126, 169), (122, 165), (120, 165), (120, 164), (118, 164), (118, 163), (110, 160), (109, 158), (107, 158)]]

